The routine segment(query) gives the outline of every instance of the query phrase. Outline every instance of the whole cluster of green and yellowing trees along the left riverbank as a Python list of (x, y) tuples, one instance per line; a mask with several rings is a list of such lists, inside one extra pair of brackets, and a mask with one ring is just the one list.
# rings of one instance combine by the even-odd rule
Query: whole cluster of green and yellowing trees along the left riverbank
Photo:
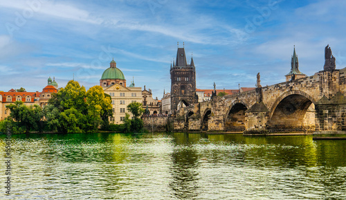
[(6, 105), (6, 108), (10, 109), (10, 116), (2, 124), (15, 133), (42, 131), (43, 128), (62, 133), (96, 131), (100, 125), (109, 124), (112, 114), (111, 98), (102, 87), (86, 91), (74, 80), (52, 93), (43, 110), (37, 104), (28, 107), (21, 101)]

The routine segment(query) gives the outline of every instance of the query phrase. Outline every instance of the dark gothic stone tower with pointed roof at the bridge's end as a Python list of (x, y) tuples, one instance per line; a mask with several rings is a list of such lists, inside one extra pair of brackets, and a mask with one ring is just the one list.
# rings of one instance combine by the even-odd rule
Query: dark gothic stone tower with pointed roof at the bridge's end
[(185, 49), (179, 48), (176, 61), (171, 64), (171, 109), (172, 113), (197, 102), (196, 98), (196, 71), (194, 61), (186, 62)]

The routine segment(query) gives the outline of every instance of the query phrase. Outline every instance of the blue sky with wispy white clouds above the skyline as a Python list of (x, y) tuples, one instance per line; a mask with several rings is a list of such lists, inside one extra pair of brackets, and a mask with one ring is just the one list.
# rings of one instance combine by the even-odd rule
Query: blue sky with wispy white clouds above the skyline
[(49, 76), (98, 85), (114, 57), (127, 84), (170, 91), (177, 42), (197, 88), (284, 82), (293, 46), (300, 71), (323, 69), (327, 44), (346, 66), (346, 1), (0, 0), (0, 91), (42, 91)]

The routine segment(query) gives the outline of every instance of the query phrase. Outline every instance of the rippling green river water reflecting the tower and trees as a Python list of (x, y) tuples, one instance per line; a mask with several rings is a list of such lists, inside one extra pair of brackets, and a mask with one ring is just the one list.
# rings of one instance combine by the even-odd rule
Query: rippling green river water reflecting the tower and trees
[(14, 135), (6, 195), (3, 138), (0, 199), (346, 199), (346, 140)]

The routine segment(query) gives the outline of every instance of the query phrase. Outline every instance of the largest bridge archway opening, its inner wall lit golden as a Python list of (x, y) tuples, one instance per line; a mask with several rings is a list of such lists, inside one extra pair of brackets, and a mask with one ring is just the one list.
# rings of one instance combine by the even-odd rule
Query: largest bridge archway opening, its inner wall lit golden
[(315, 104), (300, 94), (283, 98), (275, 107), (270, 128), (275, 131), (315, 130)]

